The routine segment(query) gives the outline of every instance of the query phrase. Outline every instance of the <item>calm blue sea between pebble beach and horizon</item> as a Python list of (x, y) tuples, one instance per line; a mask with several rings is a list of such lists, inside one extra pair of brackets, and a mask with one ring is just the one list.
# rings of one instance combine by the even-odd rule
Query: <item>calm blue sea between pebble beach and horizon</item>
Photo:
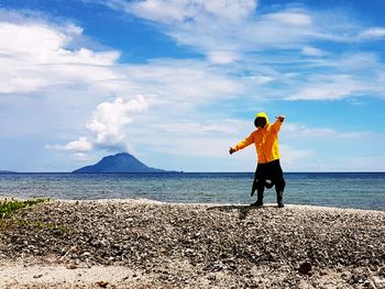
[[(284, 202), (385, 211), (385, 173), (286, 173)], [(253, 173), (0, 174), (0, 197), (250, 204)], [(265, 203), (275, 203), (274, 188)]]

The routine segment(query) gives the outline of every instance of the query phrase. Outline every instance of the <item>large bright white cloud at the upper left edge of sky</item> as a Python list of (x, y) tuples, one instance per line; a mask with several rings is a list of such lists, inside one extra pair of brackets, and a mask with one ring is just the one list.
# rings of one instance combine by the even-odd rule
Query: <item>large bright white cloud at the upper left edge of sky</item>
[(32, 92), (53, 86), (73, 87), (74, 82), (108, 88), (120, 78), (110, 69), (119, 53), (67, 48), (81, 32), (74, 25), (0, 21), (0, 92)]

